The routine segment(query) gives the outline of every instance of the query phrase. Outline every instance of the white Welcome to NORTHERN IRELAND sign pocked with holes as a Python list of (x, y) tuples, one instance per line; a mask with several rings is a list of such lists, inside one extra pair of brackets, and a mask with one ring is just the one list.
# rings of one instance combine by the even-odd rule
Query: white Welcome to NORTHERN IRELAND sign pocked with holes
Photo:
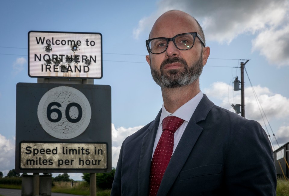
[(37, 78), (102, 78), (100, 33), (28, 33), (28, 75)]

